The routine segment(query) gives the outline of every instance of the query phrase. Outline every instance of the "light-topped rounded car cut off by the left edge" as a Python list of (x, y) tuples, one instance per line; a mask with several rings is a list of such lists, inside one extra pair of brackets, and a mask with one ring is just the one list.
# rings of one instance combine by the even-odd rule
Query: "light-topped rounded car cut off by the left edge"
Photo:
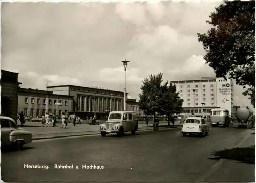
[(32, 142), (32, 133), (19, 128), (10, 117), (0, 116), (1, 145), (14, 146), (16, 150), (22, 150), (24, 144)]

